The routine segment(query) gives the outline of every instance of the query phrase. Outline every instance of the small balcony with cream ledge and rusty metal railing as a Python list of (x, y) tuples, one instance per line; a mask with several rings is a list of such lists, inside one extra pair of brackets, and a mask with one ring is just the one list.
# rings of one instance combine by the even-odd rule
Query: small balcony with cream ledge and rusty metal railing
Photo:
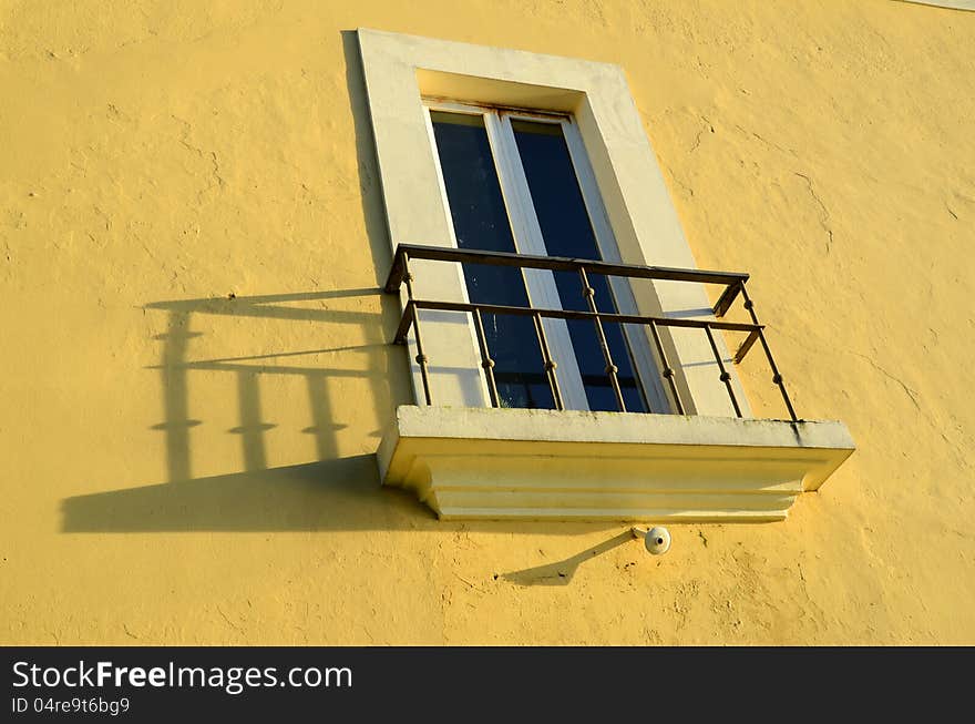
[[(472, 304), (414, 295), (410, 264), (479, 264), (571, 272), (578, 275), (587, 310)], [(678, 282), (720, 287), (714, 318), (686, 318), (601, 310), (591, 278)], [(383, 482), (417, 491), (447, 519), (773, 521), (786, 518), (803, 491), (818, 489), (849, 457), (853, 441), (845, 426), (797, 416), (779, 368), (748, 295), (748, 275), (610, 264), (589, 259), (538, 257), (499, 252), (400, 245), (386, 290), (403, 295), (403, 314), (393, 341), (411, 344), (425, 405), (403, 406), (379, 449)], [(741, 300), (750, 323), (725, 322)], [(421, 312), (468, 315), (478, 345), (490, 408), (438, 406), (431, 389)], [(485, 315), (528, 317), (535, 329), (537, 375), (547, 383), (554, 409), (512, 409), (502, 405), (494, 359), (484, 330)], [(558, 365), (544, 319), (593, 324), (605, 361), (616, 411), (565, 409)], [(627, 411), (607, 344), (605, 326), (634, 325), (647, 330), (673, 414)], [(667, 333), (699, 330), (714, 354), (716, 376), (735, 417), (687, 415), (681, 366), (668, 351)], [(723, 334), (738, 337), (730, 359)], [(777, 386), (786, 419), (751, 419), (732, 385), (731, 365), (759, 343)], [(671, 360), (676, 364), (671, 364)]]

